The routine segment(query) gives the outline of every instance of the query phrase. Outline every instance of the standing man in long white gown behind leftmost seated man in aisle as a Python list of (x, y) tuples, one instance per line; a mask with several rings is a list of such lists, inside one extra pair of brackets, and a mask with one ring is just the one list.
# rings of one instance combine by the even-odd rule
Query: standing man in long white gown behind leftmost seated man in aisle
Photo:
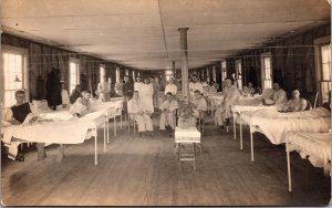
[(141, 91), (138, 92), (142, 98), (142, 104), (144, 110), (153, 113), (154, 112), (154, 101), (153, 101), (154, 87), (148, 82), (148, 79), (144, 79), (144, 84), (142, 85)]

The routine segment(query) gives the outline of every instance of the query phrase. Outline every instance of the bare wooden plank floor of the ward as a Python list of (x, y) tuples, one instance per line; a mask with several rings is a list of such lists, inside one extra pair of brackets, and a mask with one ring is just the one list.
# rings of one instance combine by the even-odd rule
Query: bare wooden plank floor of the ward
[[(112, 126), (112, 125), (111, 125)], [(111, 133), (112, 127), (110, 126)], [(65, 146), (56, 163), (56, 147), (37, 162), (2, 158), (1, 199), (8, 206), (320, 206), (331, 196), (331, 178), (295, 153), (291, 154), (293, 193), (288, 191), (286, 152), (255, 134), (256, 162), (250, 162), (248, 129), (243, 150), (232, 133), (219, 133), (211, 122), (203, 137), (205, 153), (178, 166), (173, 141), (157, 132), (139, 138), (127, 129), (102, 153), (94, 165), (94, 141)], [(100, 134), (102, 135), (102, 134)], [(113, 134), (111, 134), (113, 135)]]

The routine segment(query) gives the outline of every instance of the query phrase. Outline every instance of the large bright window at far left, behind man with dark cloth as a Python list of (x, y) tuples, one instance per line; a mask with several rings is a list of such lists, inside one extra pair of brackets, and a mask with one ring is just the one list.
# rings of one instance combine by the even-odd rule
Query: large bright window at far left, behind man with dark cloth
[[(3, 69), (3, 106), (10, 107), (15, 104), (14, 93), (17, 90), (29, 90), (27, 79), (27, 54), (24, 49), (3, 46), (2, 69)], [(29, 92), (25, 93), (29, 100)]]

